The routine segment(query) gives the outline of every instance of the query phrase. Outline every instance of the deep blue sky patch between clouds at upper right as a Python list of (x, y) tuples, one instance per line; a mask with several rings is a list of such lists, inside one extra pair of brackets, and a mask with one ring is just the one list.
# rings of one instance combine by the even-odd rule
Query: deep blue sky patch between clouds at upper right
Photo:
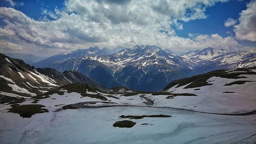
[(176, 31), (178, 36), (188, 37), (188, 33), (198, 34), (219, 34), (228, 36), (227, 31), (233, 32), (232, 27), (224, 27), (223, 21), (228, 17), (239, 18), (239, 13), (246, 9), (246, 4), (250, 1), (229, 1), (217, 3), (213, 7), (206, 9), (207, 18), (196, 19), (189, 22), (182, 22), (184, 30)]

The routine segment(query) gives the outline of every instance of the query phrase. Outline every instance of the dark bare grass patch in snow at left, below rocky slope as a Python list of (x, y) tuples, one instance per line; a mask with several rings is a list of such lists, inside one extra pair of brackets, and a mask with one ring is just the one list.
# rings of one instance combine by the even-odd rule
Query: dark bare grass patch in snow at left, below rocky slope
[(36, 113), (49, 112), (47, 109), (42, 108), (44, 105), (11, 105), (12, 108), (9, 109), (9, 112), (18, 113), (22, 117), (31, 117)]

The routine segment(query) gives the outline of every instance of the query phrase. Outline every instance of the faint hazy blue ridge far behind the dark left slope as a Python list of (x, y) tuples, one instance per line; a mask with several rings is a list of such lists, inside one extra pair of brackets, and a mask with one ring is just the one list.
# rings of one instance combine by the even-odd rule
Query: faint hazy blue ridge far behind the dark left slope
[(28, 64), (33, 64), (35, 62), (46, 59), (47, 57), (38, 57), (31, 54), (23, 54), (23, 53), (6, 53), (7, 56), (15, 59), (24, 60)]

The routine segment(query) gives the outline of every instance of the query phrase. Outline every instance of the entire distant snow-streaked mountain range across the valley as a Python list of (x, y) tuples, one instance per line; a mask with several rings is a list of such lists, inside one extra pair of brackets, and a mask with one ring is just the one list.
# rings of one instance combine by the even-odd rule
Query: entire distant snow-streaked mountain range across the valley
[(217, 69), (247, 68), (256, 65), (256, 51), (216, 50), (207, 47), (181, 56), (155, 45), (100, 50), (97, 46), (61, 53), (33, 64), (58, 71), (77, 70), (106, 88), (129, 87), (159, 91), (173, 80)]

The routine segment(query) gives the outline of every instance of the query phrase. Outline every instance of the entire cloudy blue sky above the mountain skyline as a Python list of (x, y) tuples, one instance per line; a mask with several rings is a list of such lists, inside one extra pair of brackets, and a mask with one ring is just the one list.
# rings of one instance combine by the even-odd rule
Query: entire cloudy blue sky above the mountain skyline
[(0, 2), (0, 53), (51, 56), (136, 44), (176, 53), (256, 50), (256, 0)]

